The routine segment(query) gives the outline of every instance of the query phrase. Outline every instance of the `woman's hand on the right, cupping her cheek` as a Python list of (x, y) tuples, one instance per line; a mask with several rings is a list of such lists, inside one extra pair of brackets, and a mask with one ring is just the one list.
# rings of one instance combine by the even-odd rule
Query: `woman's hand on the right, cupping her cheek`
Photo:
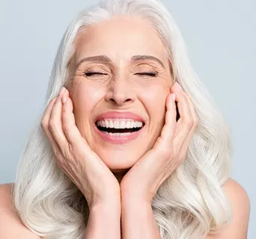
[(178, 84), (171, 87), (175, 93), (180, 119), (176, 122), (176, 105), (172, 94), (166, 98), (165, 125), (161, 135), (150, 149), (128, 171), (121, 181), (121, 198), (152, 202), (163, 181), (183, 162), (189, 141), (198, 125), (192, 101)]

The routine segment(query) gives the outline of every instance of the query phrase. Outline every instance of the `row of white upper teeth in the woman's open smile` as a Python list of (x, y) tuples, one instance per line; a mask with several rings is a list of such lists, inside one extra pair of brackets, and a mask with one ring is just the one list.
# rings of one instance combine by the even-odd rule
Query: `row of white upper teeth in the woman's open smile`
[(141, 128), (142, 122), (131, 119), (98, 120), (97, 126), (106, 128)]

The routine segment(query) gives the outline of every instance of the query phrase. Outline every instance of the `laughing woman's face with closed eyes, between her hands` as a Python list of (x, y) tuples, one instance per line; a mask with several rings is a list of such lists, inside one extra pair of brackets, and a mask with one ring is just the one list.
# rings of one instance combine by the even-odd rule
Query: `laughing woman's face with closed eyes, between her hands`
[(116, 17), (76, 37), (70, 79), (76, 125), (113, 173), (153, 147), (172, 78), (162, 40), (146, 19)]

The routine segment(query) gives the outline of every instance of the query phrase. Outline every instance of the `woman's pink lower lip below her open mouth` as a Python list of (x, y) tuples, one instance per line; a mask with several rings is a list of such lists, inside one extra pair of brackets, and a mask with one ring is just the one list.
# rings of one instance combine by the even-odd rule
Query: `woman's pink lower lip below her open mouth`
[(98, 134), (100, 134), (101, 137), (103, 137), (103, 140), (109, 141), (110, 143), (128, 143), (131, 140), (135, 140), (136, 137), (138, 137), (139, 134), (141, 134), (141, 131), (143, 130), (144, 126), (138, 130), (133, 132), (129, 135), (111, 135), (111, 134), (105, 134), (102, 131), (100, 131), (99, 128), (94, 124), (94, 127), (96, 128), (96, 131)]

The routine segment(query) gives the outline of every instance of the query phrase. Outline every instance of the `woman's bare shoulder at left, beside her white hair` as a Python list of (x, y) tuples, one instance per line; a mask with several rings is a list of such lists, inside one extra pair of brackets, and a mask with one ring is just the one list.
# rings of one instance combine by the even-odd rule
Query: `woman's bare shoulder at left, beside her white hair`
[(13, 184), (0, 184), (0, 235), (5, 239), (39, 239), (25, 227), (16, 214), (11, 200)]

